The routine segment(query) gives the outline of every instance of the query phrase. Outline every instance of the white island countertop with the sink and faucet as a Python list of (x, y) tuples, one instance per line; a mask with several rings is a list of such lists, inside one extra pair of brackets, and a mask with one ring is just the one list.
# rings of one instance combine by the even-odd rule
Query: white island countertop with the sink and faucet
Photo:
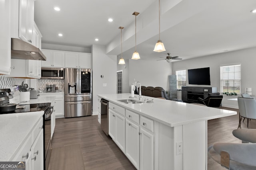
[[(236, 111), (163, 100), (148, 96), (143, 96), (142, 101), (144, 101), (144, 99), (153, 99), (153, 104), (146, 102), (142, 104), (125, 104), (118, 101), (121, 99), (131, 99), (129, 98), (131, 94), (99, 94), (98, 96), (170, 127), (237, 114)], [(138, 100), (138, 95), (134, 96), (137, 96), (134, 100)]]

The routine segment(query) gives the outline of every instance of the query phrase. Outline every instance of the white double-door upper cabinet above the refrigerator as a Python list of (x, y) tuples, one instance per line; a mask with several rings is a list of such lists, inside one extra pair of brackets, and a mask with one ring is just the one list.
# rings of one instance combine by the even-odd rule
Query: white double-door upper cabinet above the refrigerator
[(66, 52), (65, 53), (66, 68), (91, 68), (91, 54)]

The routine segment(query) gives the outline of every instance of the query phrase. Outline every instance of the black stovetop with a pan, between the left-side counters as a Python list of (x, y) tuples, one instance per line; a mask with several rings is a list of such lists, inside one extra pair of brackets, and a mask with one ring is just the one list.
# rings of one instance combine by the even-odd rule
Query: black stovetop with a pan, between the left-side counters
[[(41, 104), (24, 104), (16, 106), (16, 110), (8, 113), (23, 113), (30, 111), (45, 111), (51, 106), (51, 103), (41, 103)], [(3, 114), (3, 113), (1, 113)]]

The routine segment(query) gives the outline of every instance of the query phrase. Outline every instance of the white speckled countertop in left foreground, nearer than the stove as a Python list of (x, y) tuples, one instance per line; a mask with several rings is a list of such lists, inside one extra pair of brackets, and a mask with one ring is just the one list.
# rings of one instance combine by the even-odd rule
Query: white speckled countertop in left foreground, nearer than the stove
[(44, 111), (0, 115), (0, 161), (11, 161)]

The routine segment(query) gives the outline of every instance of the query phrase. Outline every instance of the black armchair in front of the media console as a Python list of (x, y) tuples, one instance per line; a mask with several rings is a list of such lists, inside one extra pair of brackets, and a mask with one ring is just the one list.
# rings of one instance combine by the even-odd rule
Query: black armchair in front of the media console
[(222, 98), (222, 95), (209, 95), (205, 99), (198, 98), (198, 102), (208, 107), (220, 107)]

